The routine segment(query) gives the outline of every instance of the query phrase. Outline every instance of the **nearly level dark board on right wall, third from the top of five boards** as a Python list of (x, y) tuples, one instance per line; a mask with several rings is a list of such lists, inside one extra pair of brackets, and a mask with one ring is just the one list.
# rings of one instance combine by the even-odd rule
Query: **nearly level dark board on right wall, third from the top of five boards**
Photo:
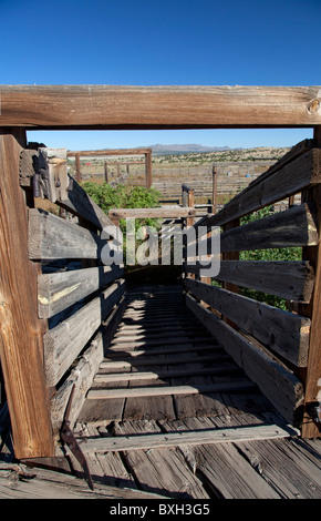
[[(187, 273), (198, 274), (199, 268), (199, 263), (184, 264)], [(302, 303), (310, 302), (314, 284), (313, 269), (304, 260), (221, 260), (213, 278)]]

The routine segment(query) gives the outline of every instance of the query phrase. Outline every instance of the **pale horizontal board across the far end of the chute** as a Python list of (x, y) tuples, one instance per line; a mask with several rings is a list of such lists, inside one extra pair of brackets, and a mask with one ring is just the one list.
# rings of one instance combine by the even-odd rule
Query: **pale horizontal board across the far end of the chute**
[(110, 217), (113, 218), (175, 218), (190, 217), (195, 215), (194, 207), (163, 206), (161, 208), (116, 208), (110, 210)]

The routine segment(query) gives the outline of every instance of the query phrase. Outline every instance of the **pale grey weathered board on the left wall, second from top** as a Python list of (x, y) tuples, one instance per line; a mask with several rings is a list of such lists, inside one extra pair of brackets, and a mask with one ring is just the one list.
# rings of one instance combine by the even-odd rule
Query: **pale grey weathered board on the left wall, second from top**
[(29, 210), (29, 257), (33, 260), (99, 258), (106, 244), (76, 224), (38, 208)]

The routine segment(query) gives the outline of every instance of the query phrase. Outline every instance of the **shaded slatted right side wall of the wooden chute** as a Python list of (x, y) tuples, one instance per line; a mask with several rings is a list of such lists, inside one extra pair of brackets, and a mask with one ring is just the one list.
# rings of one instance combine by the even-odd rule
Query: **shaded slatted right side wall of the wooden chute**
[[(200, 257), (188, 258), (188, 248), (184, 263), (185, 273), (196, 277), (185, 278), (187, 306), (284, 418), (301, 422), (302, 435), (307, 437), (318, 436), (311, 407), (319, 401), (320, 392), (315, 377), (319, 369), (312, 368), (309, 361), (311, 357), (315, 359), (315, 353), (321, 355), (320, 338), (317, 340), (313, 334), (320, 323), (320, 317), (313, 314), (320, 259), (315, 254), (309, 255), (320, 244), (320, 160), (317, 139), (299, 143), (220, 212), (195, 224), (199, 244), (207, 248), (211, 244), (211, 226), (221, 227), (222, 259), (219, 273), (213, 278), (220, 280), (222, 287), (213, 286), (210, 279), (209, 284), (199, 280), (204, 266)], [(313, 196), (307, 197), (307, 191), (311, 194), (311, 190)], [(302, 204), (241, 224), (242, 216), (300, 192)], [(239, 252), (282, 247), (302, 247), (302, 259), (238, 259)], [(240, 288), (294, 302), (299, 314), (246, 297)], [(312, 392), (310, 378), (314, 382)]]

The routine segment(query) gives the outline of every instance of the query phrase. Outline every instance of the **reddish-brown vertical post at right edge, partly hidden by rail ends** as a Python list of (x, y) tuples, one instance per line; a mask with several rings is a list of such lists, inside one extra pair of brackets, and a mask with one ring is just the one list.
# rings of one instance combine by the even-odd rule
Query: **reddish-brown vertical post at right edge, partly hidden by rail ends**
[[(321, 126), (314, 129), (314, 146), (321, 147)], [(319, 238), (321, 237), (321, 184), (302, 192), (302, 201), (312, 201), (317, 207)], [(303, 248), (303, 258), (310, 260), (314, 268), (315, 283), (309, 305), (300, 305), (299, 313), (311, 319), (308, 367), (303, 381), (306, 387), (306, 409), (302, 422), (302, 437), (321, 437), (317, 425), (312, 421), (313, 405), (321, 401), (321, 243), (318, 246)], [(311, 409), (312, 406), (312, 409)]]

